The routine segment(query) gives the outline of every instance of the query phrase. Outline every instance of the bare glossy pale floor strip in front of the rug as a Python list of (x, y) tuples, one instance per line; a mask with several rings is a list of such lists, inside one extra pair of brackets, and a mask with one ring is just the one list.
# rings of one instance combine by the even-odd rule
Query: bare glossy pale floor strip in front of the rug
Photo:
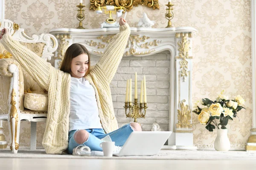
[(0, 158), (0, 170), (256, 170), (255, 160)]

